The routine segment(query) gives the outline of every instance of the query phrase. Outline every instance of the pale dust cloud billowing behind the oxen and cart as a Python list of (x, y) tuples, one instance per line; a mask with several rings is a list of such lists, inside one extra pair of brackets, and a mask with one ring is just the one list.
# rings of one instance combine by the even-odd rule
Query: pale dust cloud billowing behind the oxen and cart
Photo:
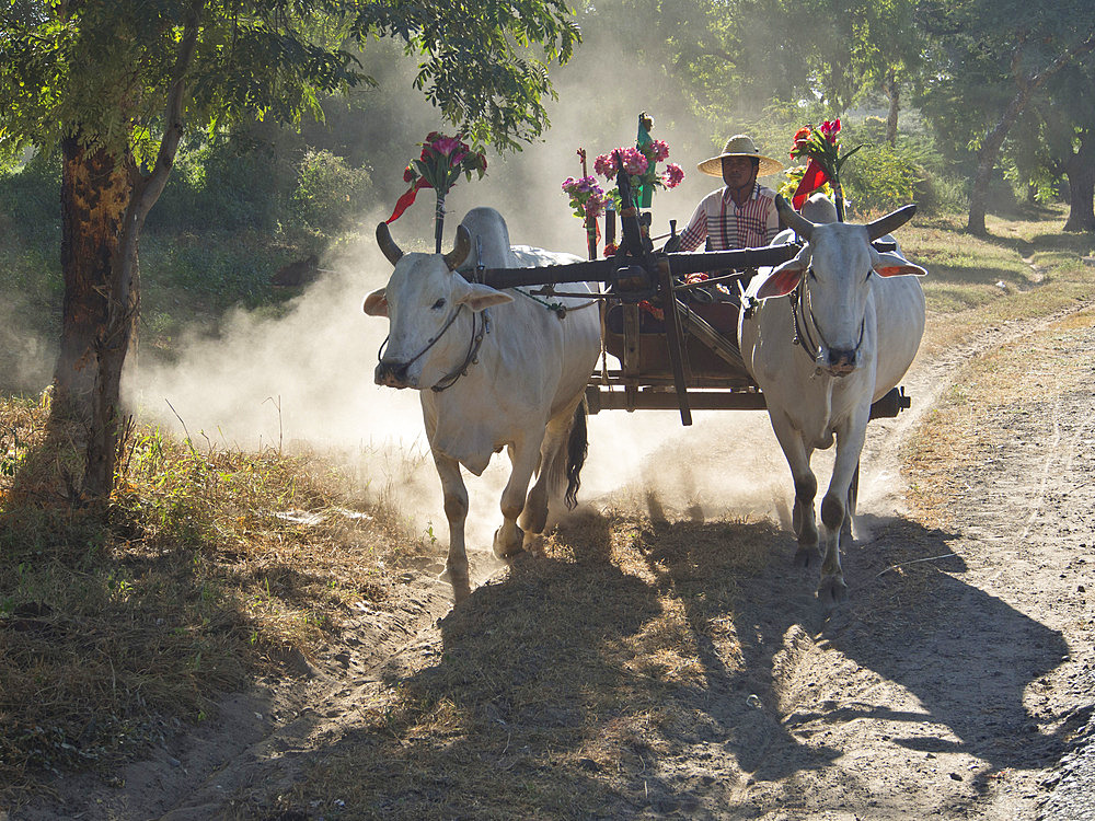
[[(576, 58), (576, 61), (578, 58)], [(670, 146), (670, 161), (685, 170), (685, 182), (655, 197), (654, 234), (679, 227), (699, 199), (718, 181), (695, 171), (699, 161), (717, 153), (736, 129), (718, 134), (690, 118), (672, 94), (676, 108), (657, 111), (632, 96), (661, 81), (629, 69), (612, 77), (603, 67), (624, 66), (603, 49), (596, 81), (580, 62), (553, 74), (560, 100), (550, 107), (553, 127), (545, 141), (522, 153), (489, 157), (482, 181), (461, 180), (447, 200), (446, 242), (462, 215), (474, 206), (492, 206), (506, 218), (512, 242), (569, 251), (585, 256), (581, 222), (570, 215), (561, 183), (578, 176), (576, 154), (587, 149), (589, 166), (600, 153), (634, 144), (637, 115), (654, 117), (654, 136)], [(417, 100), (408, 107), (425, 106)], [(669, 106), (672, 108), (672, 106)], [(424, 109), (426, 111), (426, 109)], [(408, 114), (429, 122), (428, 112)], [(437, 128), (438, 124), (431, 128)], [(429, 129), (427, 129), (429, 130)], [(423, 134), (406, 134), (407, 157)], [(400, 175), (402, 169), (377, 170)], [(397, 243), (429, 250), (431, 196), (392, 224)], [(194, 337), (170, 366), (138, 363), (128, 393), (142, 413), (197, 446), (241, 449), (323, 450), (342, 454), (349, 473), (378, 500), (395, 505), (423, 533), (446, 534), (440, 488), (428, 455), (417, 395), (378, 388), (372, 382), (377, 354), (388, 323), (361, 312), (364, 296), (383, 286), (391, 265), (372, 240), (373, 227), (393, 203), (378, 203), (362, 215), (361, 239), (328, 252), (321, 266), (335, 271), (311, 286), (286, 315), (268, 319), (246, 312), (231, 316), (216, 339)], [(590, 417), (589, 458), (580, 500), (598, 507), (683, 511), (691, 516), (772, 517), (776, 499), (789, 497), (789, 476), (763, 413), (698, 414), (682, 428), (670, 412), (603, 412)], [(487, 548), (500, 521), (498, 498), (508, 460), (496, 458), (476, 479), (468, 476), (471, 498), (469, 547)]]

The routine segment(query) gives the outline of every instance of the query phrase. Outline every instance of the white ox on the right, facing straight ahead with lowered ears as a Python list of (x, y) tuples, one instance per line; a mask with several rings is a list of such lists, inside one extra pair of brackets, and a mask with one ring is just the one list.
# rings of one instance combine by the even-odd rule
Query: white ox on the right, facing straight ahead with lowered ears
[[(815, 223), (782, 198), (779, 207), (784, 224), (806, 245), (750, 284), (746, 302), (751, 310), (741, 313), (738, 340), (791, 465), (799, 565), (808, 566), (820, 553), (810, 456), (835, 437), (835, 463), (821, 501), (825, 555), (818, 588), (818, 598), (831, 606), (848, 595), (840, 540), (842, 534), (851, 539), (871, 405), (897, 385), (920, 347), (924, 292), (917, 277), (927, 271), (899, 250), (879, 253), (871, 244), (907, 222), (914, 206), (867, 226)], [(829, 218), (834, 217), (832, 210)], [(776, 242), (789, 239), (784, 232)]]

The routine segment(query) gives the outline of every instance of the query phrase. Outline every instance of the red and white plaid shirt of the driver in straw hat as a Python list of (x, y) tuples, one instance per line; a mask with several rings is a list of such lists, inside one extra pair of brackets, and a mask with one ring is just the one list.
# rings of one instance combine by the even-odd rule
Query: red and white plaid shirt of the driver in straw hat
[(700, 200), (688, 228), (681, 232), (681, 251), (695, 251), (710, 240), (712, 251), (734, 251), (768, 245), (780, 232), (775, 192), (760, 183), (738, 207), (729, 188), (713, 190)]

